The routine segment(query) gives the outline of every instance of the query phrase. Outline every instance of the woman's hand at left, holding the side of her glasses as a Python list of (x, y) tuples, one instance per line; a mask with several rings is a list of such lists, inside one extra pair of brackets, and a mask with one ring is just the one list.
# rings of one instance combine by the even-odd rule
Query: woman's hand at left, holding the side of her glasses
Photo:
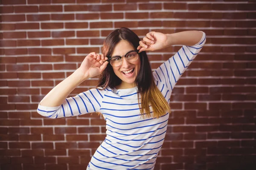
[(84, 58), (78, 70), (81, 71), (85, 79), (95, 77), (105, 70), (108, 65), (107, 59), (108, 57), (105, 57), (104, 54), (92, 52)]

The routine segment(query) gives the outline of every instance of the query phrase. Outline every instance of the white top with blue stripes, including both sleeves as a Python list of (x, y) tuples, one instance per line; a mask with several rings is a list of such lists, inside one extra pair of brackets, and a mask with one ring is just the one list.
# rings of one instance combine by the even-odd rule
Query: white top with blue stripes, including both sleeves
[[(166, 101), (186, 68), (199, 53), (206, 41), (185, 46), (153, 72), (157, 88)], [(140, 116), (137, 88), (93, 88), (67, 98), (58, 107), (38, 105), (38, 113), (49, 118), (79, 116), (101, 112), (106, 120), (106, 138), (98, 147), (87, 170), (153, 170), (162, 147), (169, 113), (159, 119)], [(151, 113), (152, 114), (152, 113)]]

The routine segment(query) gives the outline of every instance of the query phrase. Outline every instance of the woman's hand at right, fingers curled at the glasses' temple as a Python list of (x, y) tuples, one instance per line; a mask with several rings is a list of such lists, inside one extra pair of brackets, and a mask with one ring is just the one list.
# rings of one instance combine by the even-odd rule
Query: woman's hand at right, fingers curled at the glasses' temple
[(139, 43), (140, 45), (137, 47), (139, 53), (141, 51), (161, 50), (167, 47), (167, 36), (160, 32), (151, 31)]

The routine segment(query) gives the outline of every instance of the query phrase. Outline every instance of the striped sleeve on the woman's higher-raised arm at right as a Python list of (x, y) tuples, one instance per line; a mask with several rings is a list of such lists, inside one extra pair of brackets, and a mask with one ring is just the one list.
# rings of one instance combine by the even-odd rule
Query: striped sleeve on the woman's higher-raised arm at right
[(172, 91), (178, 79), (180, 79), (184, 71), (186, 71), (188, 66), (201, 51), (205, 42), (206, 35), (203, 32), (203, 36), (197, 44), (192, 46), (183, 45), (175, 55), (153, 72), (154, 79), (166, 84), (167, 88)]

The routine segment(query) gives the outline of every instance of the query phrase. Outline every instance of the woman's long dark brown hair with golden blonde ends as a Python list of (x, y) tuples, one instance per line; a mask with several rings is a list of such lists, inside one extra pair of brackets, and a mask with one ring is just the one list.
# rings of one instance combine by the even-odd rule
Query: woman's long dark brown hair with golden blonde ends
[[(121, 40), (126, 40), (134, 46), (134, 49), (140, 45), (140, 38), (131, 31), (129, 28), (119, 28), (111, 32), (105, 39), (102, 48), (102, 54), (105, 56), (111, 56), (115, 46)], [(141, 96), (141, 101), (138, 103), (140, 109), (140, 114), (144, 118), (144, 112), (146, 117), (150, 117), (150, 108), (153, 110), (153, 117), (159, 118), (166, 114), (166, 112), (171, 112), (166, 99), (163, 97), (161, 92), (158, 90), (157, 86), (154, 83), (153, 74), (151, 71), (150, 63), (148, 61), (148, 56), (145, 51), (140, 52), (140, 71), (135, 79), (135, 85), (138, 88), (138, 95)], [(103, 89), (116, 87), (122, 82), (119, 77), (113, 71), (113, 68), (108, 64), (107, 68), (102, 72), (99, 77), (97, 88), (101, 87)], [(140, 104), (141, 103), (141, 104)]]

